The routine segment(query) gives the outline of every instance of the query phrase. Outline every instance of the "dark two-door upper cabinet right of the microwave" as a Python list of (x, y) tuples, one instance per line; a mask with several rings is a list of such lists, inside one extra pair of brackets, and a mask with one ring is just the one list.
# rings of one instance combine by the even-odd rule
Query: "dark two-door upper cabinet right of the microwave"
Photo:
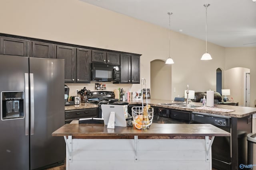
[(121, 54), (120, 83), (140, 83), (140, 56)]

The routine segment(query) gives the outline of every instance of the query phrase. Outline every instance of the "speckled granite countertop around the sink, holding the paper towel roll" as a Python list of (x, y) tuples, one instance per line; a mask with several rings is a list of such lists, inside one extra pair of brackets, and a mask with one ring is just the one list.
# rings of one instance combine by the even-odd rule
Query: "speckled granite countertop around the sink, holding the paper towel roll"
[[(146, 100), (143, 100), (143, 103), (146, 104)], [(220, 109), (232, 109), (234, 111), (232, 112), (219, 112), (219, 111), (209, 111), (209, 110), (202, 110), (202, 109), (196, 109), (195, 108), (185, 108), (185, 107), (178, 107), (178, 106), (167, 106), (167, 105), (161, 105), (164, 103), (182, 103), (182, 102), (174, 102), (173, 100), (162, 100), (162, 99), (148, 99), (148, 104), (150, 106), (156, 106), (156, 107), (164, 107), (164, 108), (170, 108), (170, 109), (178, 109), (178, 110), (186, 110), (186, 111), (195, 111), (200, 113), (209, 113), (214, 115), (222, 115), (222, 116), (228, 116), (228, 117), (246, 117), (248, 115), (252, 115), (256, 113), (255, 107), (244, 107), (244, 106), (230, 106), (230, 105), (222, 105), (222, 104), (215, 104), (214, 107), (220, 108)], [(129, 104), (142, 104), (142, 100), (135, 100), (129, 102)], [(196, 102), (190, 102), (189, 104), (194, 104), (198, 106), (202, 106), (202, 103), (196, 103)]]

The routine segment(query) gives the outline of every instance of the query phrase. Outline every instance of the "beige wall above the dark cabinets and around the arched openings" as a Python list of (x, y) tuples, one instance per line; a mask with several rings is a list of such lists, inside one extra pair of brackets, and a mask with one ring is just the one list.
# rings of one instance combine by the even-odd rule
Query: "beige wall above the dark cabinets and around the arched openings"
[[(0, 16), (1, 33), (142, 54), (140, 77), (146, 78), (148, 87), (150, 62), (168, 58), (168, 29), (78, 0), (1, 0)], [(175, 62), (171, 72), (172, 99), (184, 95), (186, 84), (189, 84), (190, 90), (216, 90), (216, 69), (219, 67), (250, 68), (251, 77), (256, 73), (252, 69), (255, 64), (255, 48), (248, 53), (242, 53), (243, 57), (247, 57), (247, 60), (242, 60), (236, 54), (236, 49), (208, 43), (208, 52), (213, 60), (201, 61), (205, 41), (173, 31), (170, 48)], [(233, 53), (236, 58), (233, 58)], [(251, 78), (251, 82), (253, 88), (256, 80)], [(94, 83), (69, 85), (71, 92), (79, 87), (86, 86), (90, 90), (94, 87)], [(125, 90), (138, 91), (140, 84), (107, 83), (107, 87), (107, 90), (124, 87)], [(256, 89), (251, 89), (251, 94), (251, 101), (256, 100)]]

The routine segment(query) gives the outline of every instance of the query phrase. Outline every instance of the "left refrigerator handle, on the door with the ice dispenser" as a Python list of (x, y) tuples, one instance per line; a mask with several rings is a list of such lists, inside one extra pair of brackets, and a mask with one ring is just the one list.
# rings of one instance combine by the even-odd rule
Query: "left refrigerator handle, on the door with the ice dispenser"
[(25, 73), (25, 135), (29, 135), (29, 80)]

